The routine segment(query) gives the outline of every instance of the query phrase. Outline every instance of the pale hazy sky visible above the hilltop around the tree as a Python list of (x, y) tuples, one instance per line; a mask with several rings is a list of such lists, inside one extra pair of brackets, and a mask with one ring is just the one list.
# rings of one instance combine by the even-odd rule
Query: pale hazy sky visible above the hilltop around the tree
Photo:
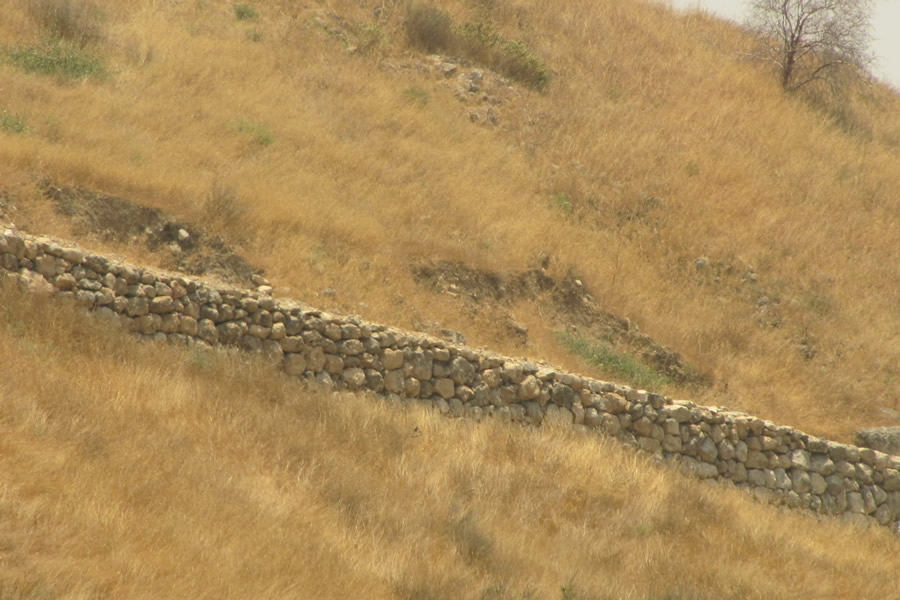
[[(703, 8), (734, 21), (743, 21), (749, 0), (663, 0), (676, 8)], [(900, 0), (875, 0), (872, 50), (875, 74), (900, 90)]]

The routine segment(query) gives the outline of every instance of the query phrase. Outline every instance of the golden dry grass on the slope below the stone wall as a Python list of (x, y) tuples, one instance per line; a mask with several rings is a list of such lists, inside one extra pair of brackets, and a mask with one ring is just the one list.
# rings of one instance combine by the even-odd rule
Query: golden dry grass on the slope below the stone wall
[[(890, 598), (898, 540), (0, 289), (3, 598)], [(565, 592), (563, 591), (565, 588)]]

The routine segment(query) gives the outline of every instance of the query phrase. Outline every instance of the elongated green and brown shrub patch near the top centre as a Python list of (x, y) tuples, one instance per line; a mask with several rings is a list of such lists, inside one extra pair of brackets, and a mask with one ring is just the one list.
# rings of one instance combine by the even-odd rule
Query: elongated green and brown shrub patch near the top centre
[(406, 35), (427, 52), (464, 56), (536, 90), (546, 89), (552, 78), (527, 44), (506, 38), (489, 21), (456, 25), (446, 11), (415, 3), (407, 13)]

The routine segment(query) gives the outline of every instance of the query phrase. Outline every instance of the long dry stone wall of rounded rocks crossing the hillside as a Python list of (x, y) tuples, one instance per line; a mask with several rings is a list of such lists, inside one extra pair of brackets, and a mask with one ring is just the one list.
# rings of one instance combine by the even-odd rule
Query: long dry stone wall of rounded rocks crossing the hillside
[(450, 416), (570, 424), (773, 503), (900, 533), (900, 456), (276, 300), (265, 286), (231, 289), (136, 267), (13, 228), (0, 230), (0, 275), (147, 339), (235, 346), (291, 376), (416, 399)]

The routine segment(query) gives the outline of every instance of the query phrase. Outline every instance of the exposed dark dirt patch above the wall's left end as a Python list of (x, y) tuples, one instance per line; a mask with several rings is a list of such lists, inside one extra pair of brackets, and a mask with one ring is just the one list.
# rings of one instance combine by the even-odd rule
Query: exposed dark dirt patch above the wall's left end
[(72, 220), (76, 235), (97, 235), (123, 244), (142, 244), (171, 255), (175, 266), (192, 275), (254, 285), (261, 271), (230, 249), (219, 236), (179, 221), (155, 208), (80, 187), (41, 184), (60, 215)]

